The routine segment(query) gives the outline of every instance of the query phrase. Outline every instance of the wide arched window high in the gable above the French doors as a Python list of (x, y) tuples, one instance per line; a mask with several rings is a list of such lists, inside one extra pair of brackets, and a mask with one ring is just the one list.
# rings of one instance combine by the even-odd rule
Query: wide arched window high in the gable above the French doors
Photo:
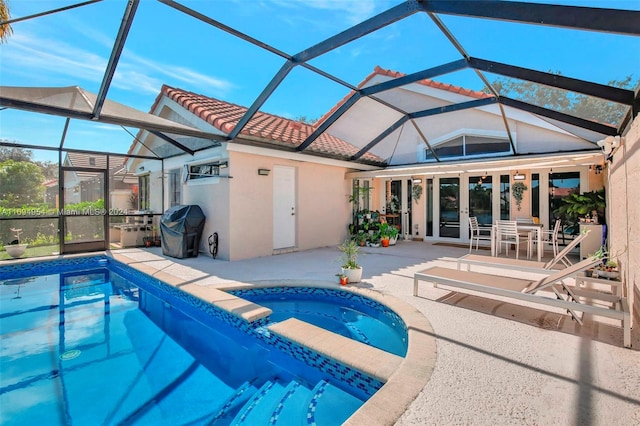
[[(432, 148), (440, 159), (511, 152), (509, 139), (467, 134), (435, 143)], [(425, 160), (436, 159), (429, 148), (425, 148), (424, 152)]]

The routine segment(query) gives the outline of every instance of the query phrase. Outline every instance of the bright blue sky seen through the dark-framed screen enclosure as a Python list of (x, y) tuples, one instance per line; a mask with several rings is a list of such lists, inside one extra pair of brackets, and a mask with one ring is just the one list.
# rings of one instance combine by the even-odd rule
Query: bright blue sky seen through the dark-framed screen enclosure
[[(13, 18), (78, 1), (9, 0)], [(639, 10), (638, 0), (540, 1)], [(402, 3), (390, 0), (182, 0), (182, 4), (287, 54), (298, 53)], [(17, 22), (0, 45), (0, 85), (78, 85), (97, 93), (126, 0)], [(471, 56), (607, 83), (640, 77), (640, 40), (604, 33), (440, 16)], [(627, 58), (626, 60), (624, 58)], [(460, 59), (424, 13), (369, 34), (310, 63), (357, 85), (376, 65), (411, 73)], [(250, 106), (284, 59), (155, 0), (141, 0), (108, 99), (149, 111), (162, 84)], [(495, 76), (489, 75), (489, 79)], [(471, 71), (437, 80), (480, 90)], [(290, 118), (319, 118), (349, 90), (296, 67), (263, 106)], [(0, 111), (0, 139), (57, 146), (64, 119)], [(129, 129), (135, 133), (136, 129)], [(117, 126), (72, 121), (65, 146), (126, 152)], [(40, 154), (39, 152), (37, 153)]]

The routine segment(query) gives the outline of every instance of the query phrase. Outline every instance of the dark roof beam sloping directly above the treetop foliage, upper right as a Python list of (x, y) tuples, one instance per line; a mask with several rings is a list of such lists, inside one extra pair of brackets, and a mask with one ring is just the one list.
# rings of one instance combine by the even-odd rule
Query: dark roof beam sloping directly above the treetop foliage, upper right
[(560, 89), (583, 93), (589, 96), (596, 96), (601, 99), (624, 105), (631, 105), (633, 103), (633, 91), (620, 89), (618, 87), (592, 83), (590, 81), (578, 80), (576, 78), (565, 77), (558, 74), (540, 72), (528, 68), (521, 68), (478, 58), (469, 58), (469, 66), (476, 70), (487, 71), (506, 77), (518, 78), (520, 80), (532, 81), (534, 83), (540, 83), (551, 87), (558, 87)]

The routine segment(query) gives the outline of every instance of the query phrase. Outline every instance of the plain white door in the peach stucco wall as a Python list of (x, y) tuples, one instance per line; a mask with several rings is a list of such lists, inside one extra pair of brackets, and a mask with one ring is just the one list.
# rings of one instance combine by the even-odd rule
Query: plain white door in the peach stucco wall
[(296, 169), (273, 168), (273, 248), (296, 245)]

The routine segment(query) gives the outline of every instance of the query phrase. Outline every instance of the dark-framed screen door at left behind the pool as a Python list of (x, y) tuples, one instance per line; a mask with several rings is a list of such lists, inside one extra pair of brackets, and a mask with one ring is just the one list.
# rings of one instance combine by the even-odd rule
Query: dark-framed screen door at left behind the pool
[(73, 169), (63, 171), (62, 229), (63, 253), (104, 250), (104, 171)]

